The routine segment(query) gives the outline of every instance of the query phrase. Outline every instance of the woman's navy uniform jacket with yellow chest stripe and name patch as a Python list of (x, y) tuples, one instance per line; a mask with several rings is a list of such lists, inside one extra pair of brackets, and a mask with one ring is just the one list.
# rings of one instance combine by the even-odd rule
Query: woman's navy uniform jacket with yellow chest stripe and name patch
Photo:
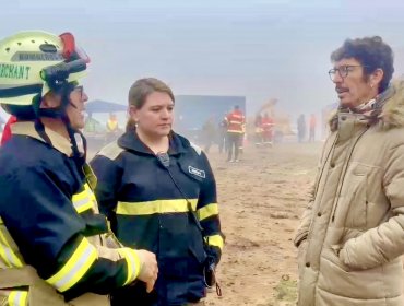
[(217, 263), (224, 243), (216, 184), (206, 155), (181, 136), (171, 132), (169, 139), (169, 172), (181, 190), (133, 131), (91, 162), (98, 179), (99, 209), (118, 239), (157, 256), (155, 298), (145, 305), (183, 305), (203, 297), (206, 255)]

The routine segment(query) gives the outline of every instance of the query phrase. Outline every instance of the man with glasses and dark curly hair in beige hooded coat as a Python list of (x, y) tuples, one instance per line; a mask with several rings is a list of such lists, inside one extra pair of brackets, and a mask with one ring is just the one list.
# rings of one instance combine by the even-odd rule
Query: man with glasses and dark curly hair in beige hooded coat
[(347, 39), (329, 71), (340, 98), (295, 238), (300, 306), (402, 306), (404, 82), (380, 37)]

